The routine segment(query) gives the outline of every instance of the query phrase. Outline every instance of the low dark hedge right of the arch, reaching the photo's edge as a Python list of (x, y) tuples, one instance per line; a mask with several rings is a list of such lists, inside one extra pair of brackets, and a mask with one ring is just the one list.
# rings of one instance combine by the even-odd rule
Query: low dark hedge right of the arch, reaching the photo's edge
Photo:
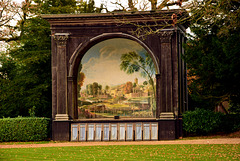
[(197, 135), (230, 133), (240, 130), (240, 116), (197, 108), (183, 114), (183, 130), (188, 134)]

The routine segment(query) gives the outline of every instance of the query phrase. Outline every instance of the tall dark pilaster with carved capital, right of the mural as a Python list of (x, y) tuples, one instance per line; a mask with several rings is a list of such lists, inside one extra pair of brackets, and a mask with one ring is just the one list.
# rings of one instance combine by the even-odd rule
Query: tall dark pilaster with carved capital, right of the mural
[(160, 119), (173, 119), (173, 68), (172, 68), (172, 35), (173, 31), (160, 32), (161, 69), (160, 69)]

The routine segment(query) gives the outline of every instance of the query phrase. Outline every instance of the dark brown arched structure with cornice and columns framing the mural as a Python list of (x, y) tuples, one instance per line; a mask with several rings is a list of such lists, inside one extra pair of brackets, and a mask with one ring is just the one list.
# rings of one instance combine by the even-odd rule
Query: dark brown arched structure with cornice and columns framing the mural
[[(53, 139), (70, 140), (73, 123), (157, 122), (158, 140), (176, 139), (181, 134), (181, 114), (187, 109), (185, 24), (164, 28), (158, 34), (139, 38), (132, 30), (139, 24), (172, 24), (178, 10), (136, 13), (43, 15), (52, 32), (52, 119)], [(184, 15), (181, 11), (181, 15)], [(181, 17), (179, 15), (179, 17)], [(154, 17), (154, 19), (152, 18)], [(163, 18), (162, 18), (163, 17)], [(122, 21), (130, 23), (122, 23)], [(155, 27), (156, 28), (156, 27)], [(161, 26), (159, 26), (161, 28)], [(151, 55), (156, 66), (156, 118), (79, 120), (77, 72), (84, 54), (95, 44), (112, 38), (133, 40)]]

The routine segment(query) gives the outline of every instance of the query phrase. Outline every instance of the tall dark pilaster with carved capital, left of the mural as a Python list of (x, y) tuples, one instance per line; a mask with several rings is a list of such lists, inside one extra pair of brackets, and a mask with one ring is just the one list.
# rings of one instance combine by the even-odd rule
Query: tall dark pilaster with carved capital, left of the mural
[(67, 108), (67, 41), (68, 33), (56, 33), (57, 43), (57, 114), (55, 120), (69, 120)]

